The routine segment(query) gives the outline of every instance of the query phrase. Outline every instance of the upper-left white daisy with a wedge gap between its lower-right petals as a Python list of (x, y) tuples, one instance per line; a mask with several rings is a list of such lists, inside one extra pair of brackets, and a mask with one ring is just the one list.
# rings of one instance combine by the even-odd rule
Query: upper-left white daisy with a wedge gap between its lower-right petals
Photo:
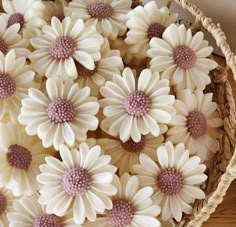
[(36, 50), (29, 56), (40, 75), (75, 79), (78, 76), (75, 60), (93, 70), (101, 58), (102, 36), (94, 27), (85, 27), (81, 19), (72, 21), (65, 17), (61, 22), (53, 17), (51, 26), (45, 25), (42, 32), (31, 39)]

